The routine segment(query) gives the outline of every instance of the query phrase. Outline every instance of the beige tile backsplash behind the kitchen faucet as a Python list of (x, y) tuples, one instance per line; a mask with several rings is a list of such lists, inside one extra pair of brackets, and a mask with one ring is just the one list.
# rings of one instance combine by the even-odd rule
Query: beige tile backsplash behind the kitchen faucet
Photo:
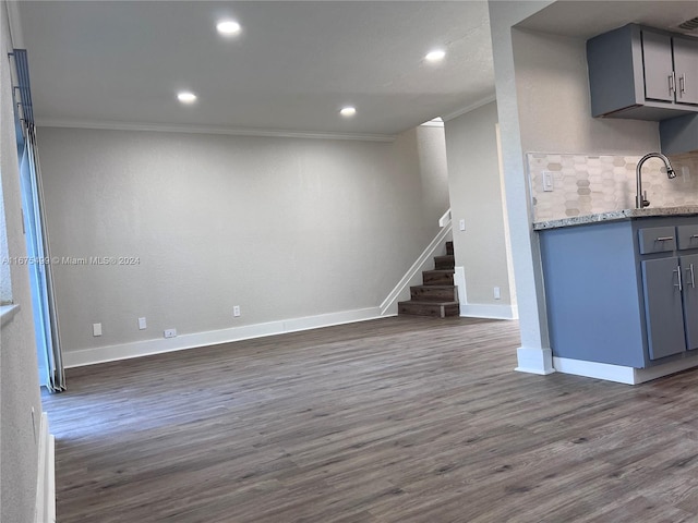
[[(635, 208), (635, 169), (641, 156), (527, 156), (534, 221)], [(642, 166), (642, 191), (651, 207), (698, 205), (698, 153), (670, 157), (676, 178), (669, 180), (663, 162)], [(553, 191), (543, 191), (543, 172), (553, 178)]]

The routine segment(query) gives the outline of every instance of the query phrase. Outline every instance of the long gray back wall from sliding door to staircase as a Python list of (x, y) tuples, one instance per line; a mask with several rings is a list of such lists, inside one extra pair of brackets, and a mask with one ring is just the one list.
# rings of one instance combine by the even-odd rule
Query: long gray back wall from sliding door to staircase
[(448, 208), (440, 129), (394, 143), (59, 127), (38, 139), (51, 254), (140, 258), (53, 267), (65, 353), (377, 307)]

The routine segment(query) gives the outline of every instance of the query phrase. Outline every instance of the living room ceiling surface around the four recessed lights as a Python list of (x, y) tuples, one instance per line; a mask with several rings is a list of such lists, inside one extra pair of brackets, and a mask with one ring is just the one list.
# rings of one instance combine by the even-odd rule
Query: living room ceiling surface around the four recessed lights
[[(494, 95), (486, 1), (17, 8), (13, 38), (28, 52), (39, 124), (394, 135)], [(239, 21), (241, 34), (219, 36), (221, 17)], [(429, 63), (435, 47), (446, 58)], [(196, 102), (180, 104), (182, 89)], [(357, 108), (351, 119), (338, 114), (346, 105)]]

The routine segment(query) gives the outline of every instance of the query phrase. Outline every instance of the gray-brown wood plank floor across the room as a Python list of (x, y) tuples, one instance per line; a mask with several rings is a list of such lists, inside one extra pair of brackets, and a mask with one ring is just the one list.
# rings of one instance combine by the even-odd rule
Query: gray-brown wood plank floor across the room
[(698, 372), (520, 374), (518, 341), (397, 317), (69, 372), (58, 521), (698, 521)]

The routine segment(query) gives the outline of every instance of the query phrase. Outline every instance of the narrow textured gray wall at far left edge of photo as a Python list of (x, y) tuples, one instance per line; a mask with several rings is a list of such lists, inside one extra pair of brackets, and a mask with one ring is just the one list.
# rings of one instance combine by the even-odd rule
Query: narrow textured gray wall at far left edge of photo
[[(10, 256), (26, 256), (22, 233), (20, 174), (12, 115), (5, 3), (0, 4), (0, 175)], [(12, 297), (20, 312), (0, 332), (0, 521), (34, 521), (41, 402), (26, 266), (11, 269)], [(32, 409), (35, 417), (33, 422)], [(35, 423), (35, 425), (33, 425)]]

